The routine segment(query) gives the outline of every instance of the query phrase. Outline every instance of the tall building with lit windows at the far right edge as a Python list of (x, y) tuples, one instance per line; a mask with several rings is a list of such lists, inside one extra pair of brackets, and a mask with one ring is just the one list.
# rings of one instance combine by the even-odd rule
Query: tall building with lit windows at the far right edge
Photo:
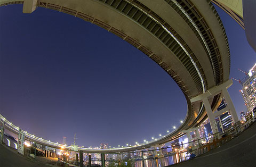
[(252, 69), (248, 72), (247, 76), (241, 81), (241, 85), (243, 87), (240, 90), (244, 103), (247, 107), (247, 112), (252, 112), (253, 108), (256, 106), (256, 64), (252, 67)]

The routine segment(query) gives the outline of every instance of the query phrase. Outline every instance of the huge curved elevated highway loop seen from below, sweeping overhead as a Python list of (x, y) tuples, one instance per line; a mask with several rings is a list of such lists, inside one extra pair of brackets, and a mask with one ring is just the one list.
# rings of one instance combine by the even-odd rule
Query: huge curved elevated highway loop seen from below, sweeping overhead
[[(207, 118), (204, 104), (201, 101), (191, 103), (190, 99), (229, 79), (228, 40), (210, 1), (0, 0), (1, 6), (10, 4), (23, 4), (23, 12), (27, 13), (43, 7), (97, 24), (148, 55), (174, 79), (185, 95), (188, 111), (177, 130), (148, 144), (97, 152), (132, 151), (182, 136), (182, 130), (197, 127)], [(214, 111), (222, 96), (207, 98)]]

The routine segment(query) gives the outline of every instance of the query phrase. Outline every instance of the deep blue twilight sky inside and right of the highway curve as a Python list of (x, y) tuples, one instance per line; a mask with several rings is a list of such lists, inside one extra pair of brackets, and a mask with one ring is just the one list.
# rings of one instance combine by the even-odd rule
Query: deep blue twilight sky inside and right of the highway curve
[[(242, 79), (256, 54), (224, 12), (230, 77)], [(229, 88), (246, 111), (238, 82)], [(121, 38), (74, 16), (22, 5), (0, 7), (0, 113), (38, 137), (79, 146), (135, 144), (179, 126), (187, 105), (156, 63)]]

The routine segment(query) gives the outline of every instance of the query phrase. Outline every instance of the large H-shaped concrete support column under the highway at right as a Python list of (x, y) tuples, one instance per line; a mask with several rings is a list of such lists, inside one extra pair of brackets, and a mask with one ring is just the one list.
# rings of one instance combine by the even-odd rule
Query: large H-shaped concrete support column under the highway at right
[[(206, 93), (198, 95), (198, 96), (190, 99), (191, 103), (194, 103), (194, 102), (197, 102), (197, 101), (203, 101), (207, 116), (208, 116), (210, 124), (211, 124), (212, 133), (217, 133), (218, 132), (216, 122), (215, 122), (215, 118), (222, 115), (225, 112), (229, 112), (231, 114), (233, 123), (236, 123), (236, 122), (239, 121), (238, 116), (236, 114), (234, 104), (233, 104), (233, 102), (231, 100), (231, 97), (230, 97), (230, 95), (228, 93), (228, 90), (227, 90), (232, 84), (233, 84), (233, 81), (228, 80), (228, 81), (224, 82), (223, 84), (221, 84), (219, 86), (215, 86), (213, 88), (210, 88), (209, 90), (207, 90)], [(221, 93), (222, 97), (225, 98), (227, 106), (225, 108), (213, 113), (212, 108), (211, 108), (211, 104), (209, 102), (209, 98), (214, 97), (215, 95), (218, 95), (220, 93)]]

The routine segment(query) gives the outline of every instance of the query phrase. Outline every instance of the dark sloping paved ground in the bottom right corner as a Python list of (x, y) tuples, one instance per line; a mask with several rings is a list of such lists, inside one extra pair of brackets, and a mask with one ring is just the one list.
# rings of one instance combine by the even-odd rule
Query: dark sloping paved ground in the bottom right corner
[(174, 167), (183, 166), (256, 166), (256, 122), (238, 137), (225, 145), (198, 156), (193, 160), (181, 162)]

